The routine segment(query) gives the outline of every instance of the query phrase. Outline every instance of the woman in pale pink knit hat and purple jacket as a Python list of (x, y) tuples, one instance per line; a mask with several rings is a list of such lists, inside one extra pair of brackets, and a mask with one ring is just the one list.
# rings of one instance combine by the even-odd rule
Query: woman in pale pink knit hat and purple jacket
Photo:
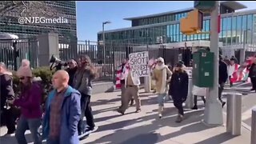
[(34, 143), (41, 144), (38, 128), (41, 125), (42, 110), (42, 89), (32, 80), (32, 71), (29, 65), (22, 66), (17, 71), (20, 80), (21, 94), (19, 98), (8, 101), (14, 106), (21, 108), (21, 117), (18, 120), (15, 137), (18, 144), (26, 144), (25, 132), (30, 130)]

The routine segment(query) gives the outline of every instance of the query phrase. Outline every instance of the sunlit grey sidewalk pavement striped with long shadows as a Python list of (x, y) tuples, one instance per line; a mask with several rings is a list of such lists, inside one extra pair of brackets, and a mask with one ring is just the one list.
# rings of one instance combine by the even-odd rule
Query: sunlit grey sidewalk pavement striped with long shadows
[[(141, 91), (142, 92), (142, 91)], [(91, 104), (98, 130), (80, 143), (166, 143), (166, 144), (249, 144), (250, 130), (242, 126), (242, 135), (232, 136), (226, 133), (226, 115), (223, 114), (224, 126), (204, 125), (204, 109), (185, 110), (185, 119), (174, 122), (177, 110), (172, 102), (166, 102), (163, 118), (158, 118), (158, 102), (155, 94), (141, 93), (142, 112), (134, 113), (135, 106), (126, 110), (125, 115), (118, 114), (121, 92), (94, 94)], [(198, 102), (198, 105), (202, 102)], [(1, 128), (1, 136), (6, 128)], [(1, 137), (1, 143), (14, 144), (14, 137)], [(31, 142), (31, 141), (30, 141)]]

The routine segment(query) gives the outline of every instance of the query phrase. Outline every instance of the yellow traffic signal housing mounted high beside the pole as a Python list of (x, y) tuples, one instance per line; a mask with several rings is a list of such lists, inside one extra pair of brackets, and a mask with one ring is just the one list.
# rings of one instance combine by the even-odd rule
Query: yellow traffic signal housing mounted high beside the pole
[(202, 30), (203, 14), (198, 9), (190, 11), (186, 18), (180, 19), (180, 31), (183, 34), (196, 34)]

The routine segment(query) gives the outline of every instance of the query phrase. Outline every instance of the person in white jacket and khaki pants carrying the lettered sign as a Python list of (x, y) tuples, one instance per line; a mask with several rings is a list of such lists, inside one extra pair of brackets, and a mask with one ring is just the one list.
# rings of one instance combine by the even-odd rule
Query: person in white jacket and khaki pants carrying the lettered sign
[[(130, 69), (130, 68), (129, 68)], [(125, 83), (126, 83), (126, 92), (124, 94), (123, 105), (118, 108), (118, 113), (125, 114), (126, 109), (128, 108), (130, 99), (133, 97), (136, 104), (136, 113), (141, 111), (141, 102), (138, 95), (139, 85), (141, 84), (139, 77), (133, 77), (131, 70), (126, 70), (124, 74)]]

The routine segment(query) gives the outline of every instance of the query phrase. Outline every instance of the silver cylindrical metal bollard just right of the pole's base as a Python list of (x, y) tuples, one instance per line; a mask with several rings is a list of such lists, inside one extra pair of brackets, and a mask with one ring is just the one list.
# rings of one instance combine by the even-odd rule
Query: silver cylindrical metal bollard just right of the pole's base
[(227, 94), (226, 132), (241, 135), (242, 125), (242, 94)]

